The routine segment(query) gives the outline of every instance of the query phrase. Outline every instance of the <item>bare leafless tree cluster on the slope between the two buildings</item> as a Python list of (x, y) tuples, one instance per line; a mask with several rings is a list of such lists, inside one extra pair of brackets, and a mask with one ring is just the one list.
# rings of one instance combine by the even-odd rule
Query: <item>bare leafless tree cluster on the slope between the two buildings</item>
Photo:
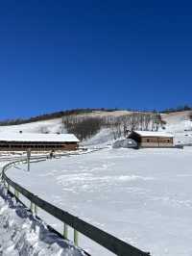
[(81, 141), (91, 138), (102, 128), (110, 128), (113, 138), (126, 137), (129, 131), (157, 131), (163, 125), (161, 115), (154, 113), (132, 113), (127, 115), (68, 115), (62, 117), (62, 127), (75, 134)]

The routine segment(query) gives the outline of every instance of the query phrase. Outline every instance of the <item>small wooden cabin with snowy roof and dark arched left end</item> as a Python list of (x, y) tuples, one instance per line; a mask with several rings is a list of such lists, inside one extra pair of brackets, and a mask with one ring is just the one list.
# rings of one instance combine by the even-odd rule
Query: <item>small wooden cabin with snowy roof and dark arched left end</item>
[(173, 147), (174, 136), (165, 132), (132, 131), (129, 138), (141, 147)]

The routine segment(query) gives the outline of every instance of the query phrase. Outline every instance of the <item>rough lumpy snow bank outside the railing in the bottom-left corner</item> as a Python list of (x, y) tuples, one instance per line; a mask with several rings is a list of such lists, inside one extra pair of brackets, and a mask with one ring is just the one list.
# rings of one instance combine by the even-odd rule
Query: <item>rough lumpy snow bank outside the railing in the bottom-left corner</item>
[(84, 252), (50, 232), (0, 185), (0, 255), (83, 256)]

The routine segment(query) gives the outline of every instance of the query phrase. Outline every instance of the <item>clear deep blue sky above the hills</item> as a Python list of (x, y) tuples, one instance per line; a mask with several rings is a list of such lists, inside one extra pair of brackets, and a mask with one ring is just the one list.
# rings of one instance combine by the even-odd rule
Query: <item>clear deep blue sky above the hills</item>
[(191, 1), (0, 1), (0, 118), (192, 104)]

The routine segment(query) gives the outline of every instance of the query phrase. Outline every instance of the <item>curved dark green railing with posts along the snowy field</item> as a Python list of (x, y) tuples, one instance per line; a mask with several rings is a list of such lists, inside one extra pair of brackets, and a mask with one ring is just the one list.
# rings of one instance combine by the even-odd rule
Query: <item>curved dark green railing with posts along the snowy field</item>
[[(45, 158), (36, 158), (36, 161), (43, 160)], [(34, 159), (35, 161), (35, 159)], [(117, 239), (116, 237), (108, 234), (107, 232), (95, 227), (83, 219), (78, 218), (61, 210), (60, 208), (54, 206), (53, 204), (39, 198), (36, 194), (29, 192), (25, 188), (21, 187), (17, 183), (13, 182), (7, 175), (6, 170), (15, 166), (17, 164), (27, 163), (26, 159), (17, 160), (12, 163), (7, 164), (3, 167), (1, 178), (4, 185), (7, 187), (8, 192), (11, 192), (11, 187), (14, 189), (14, 196), (19, 199), (19, 193), (28, 198), (31, 202), (30, 209), (37, 216), (37, 207), (41, 208), (45, 212), (49, 213), (51, 216), (60, 219), (63, 223), (63, 238), (68, 239), (68, 226), (74, 229), (74, 243), (78, 245), (78, 235), (79, 232), (84, 234), (85, 237), (90, 240), (99, 243), (103, 247), (107, 248), (109, 251), (113, 252), (118, 256), (149, 256), (149, 252), (144, 252), (129, 243)]]

